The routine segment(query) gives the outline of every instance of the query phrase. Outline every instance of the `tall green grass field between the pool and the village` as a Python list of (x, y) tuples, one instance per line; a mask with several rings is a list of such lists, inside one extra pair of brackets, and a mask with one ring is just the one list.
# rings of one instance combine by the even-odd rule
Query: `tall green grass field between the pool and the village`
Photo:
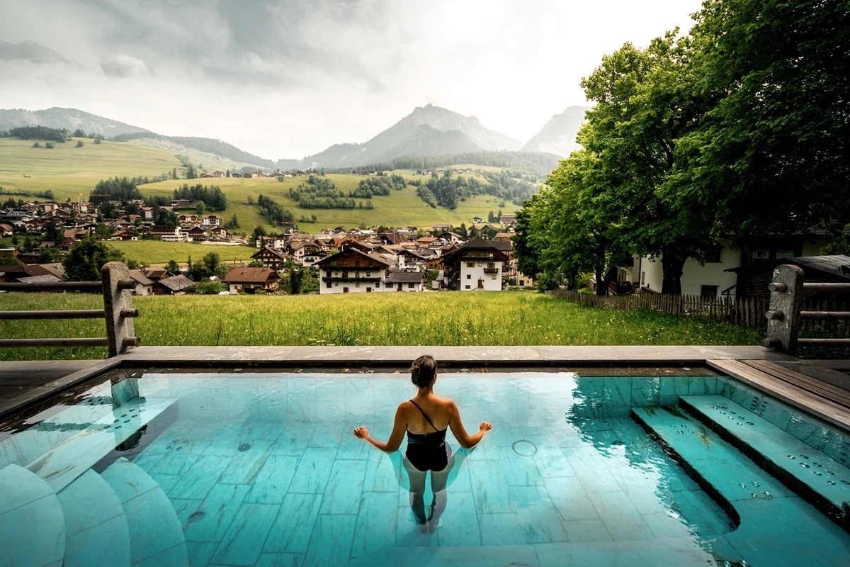
[[(102, 309), (97, 295), (0, 293), (0, 310)], [(758, 344), (728, 323), (609, 311), (536, 292), (309, 296), (146, 296), (144, 345), (661, 345)], [(2, 337), (105, 336), (102, 320), (0, 320)], [(105, 349), (0, 349), (0, 360), (104, 358)]]

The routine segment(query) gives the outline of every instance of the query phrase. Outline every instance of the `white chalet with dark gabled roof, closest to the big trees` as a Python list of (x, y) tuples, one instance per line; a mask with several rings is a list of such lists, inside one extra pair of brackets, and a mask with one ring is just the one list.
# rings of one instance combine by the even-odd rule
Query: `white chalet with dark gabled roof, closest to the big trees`
[(495, 241), (476, 236), (443, 256), (446, 286), (464, 292), (501, 292), (502, 265), (507, 261), (507, 253)]

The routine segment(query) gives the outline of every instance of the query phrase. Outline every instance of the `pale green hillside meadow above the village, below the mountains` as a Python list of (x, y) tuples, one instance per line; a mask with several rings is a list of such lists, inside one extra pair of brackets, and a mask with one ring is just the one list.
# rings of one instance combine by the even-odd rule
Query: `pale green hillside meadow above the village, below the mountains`
[[(78, 198), (88, 196), (100, 179), (139, 175), (154, 177), (161, 173), (170, 173), (175, 167), (178, 174), (182, 173), (181, 163), (176, 156), (177, 151), (166, 150), (164, 142), (161, 143), (163, 145), (106, 141), (94, 144), (90, 139), (82, 139), (82, 142), (82, 148), (75, 147), (75, 138), (65, 144), (56, 144), (54, 149), (47, 149), (33, 148), (33, 140), (0, 139), (0, 186), (5, 190), (52, 190), (57, 201), (77, 201)], [(193, 162), (194, 158), (202, 162), (209, 171), (227, 167), (213, 161), (210, 156), (207, 156), (209, 159), (197, 153), (189, 156)], [(397, 173), (407, 179), (428, 179), (428, 176), (417, 176), (412, 171)], [(354, 190), (360, 180), (365, 179), (360, 175), (342, 174), (330, 174), (327, 177), (343, 191)], [(454, 211), (445, 208), (433, 209), (416, 196), (414, 187), (407, 186), (404, 190), (393, 191), (391, 196), (373, 197), (373, 209), (302, 209), (289, 197), (288, 191), (303, 181), (303, 178), (283, 181), (275, 178), (178, 179), (139, 185), (139, 191), (144, 196), (161, 195), (170, 198), (173, 196), (173, 190), (184, 183), (218, 185), (228, 200), (227, 209), (220, 214), (225, 220), (235, 214), (240, 224), (238, 230), (246, 233), (252, 232), (257, 225), (262, 225), (267, 230), (275, 230), (274, 226), (259, 215), (256, 201), (260, 195), (270, 196), (278, 201), (281, 207), (292, 210), (296, 220), (302, 216), (312, 218), (315, 215), (316, 222), (299, 223), (299, 229), (304, 232), (318, 232), (337, 226), (351, 228), (360, 224), (395, 227), (432, 224), (460, 226), (465, 223), (469, 226), (473, 217), (487, 218), (490, 211), (497, 213), (500, 209), (503, 213), (513, 213), (519, 208), (511, 202), (499, 207), (501, 200), (495, 196), (475, 196), (460, 201)], [(255, 204), (249, 205), (248, 197), (252, 197)]]

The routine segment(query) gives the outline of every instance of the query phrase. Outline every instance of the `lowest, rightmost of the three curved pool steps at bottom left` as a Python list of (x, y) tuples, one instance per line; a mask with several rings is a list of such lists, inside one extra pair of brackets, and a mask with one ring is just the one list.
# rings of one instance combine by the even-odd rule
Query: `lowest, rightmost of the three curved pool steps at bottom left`
[(188, 566), (183, 526), (156, 480), (124, 457), (113, 462), (100, 476), (111, 486), (126, 514), (130, 564)]

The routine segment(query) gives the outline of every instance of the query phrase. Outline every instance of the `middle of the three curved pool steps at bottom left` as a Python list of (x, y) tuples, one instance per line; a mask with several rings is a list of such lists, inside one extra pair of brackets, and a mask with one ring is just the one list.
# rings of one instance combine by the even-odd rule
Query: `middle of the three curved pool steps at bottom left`
[(130, 564), (127, 517), (98, 473), (86, 471), (57, 497), (65, 515), (64, 567)]

